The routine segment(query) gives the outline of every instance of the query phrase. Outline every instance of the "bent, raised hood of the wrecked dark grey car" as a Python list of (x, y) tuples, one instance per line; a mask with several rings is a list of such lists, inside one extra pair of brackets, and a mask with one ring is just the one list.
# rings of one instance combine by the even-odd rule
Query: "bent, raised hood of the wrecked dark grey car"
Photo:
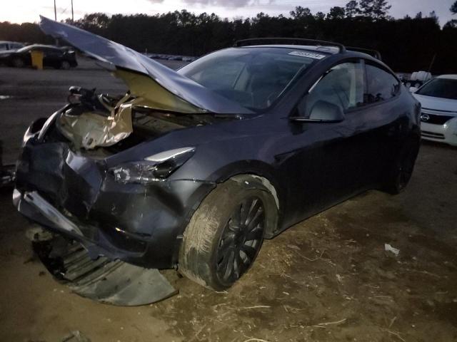
[(115, 71), (116, 76), (123, 78), (130, 88), (135, 83), (135, 76), (148, 76), (151, 79), (150, 92), (145, 91), (145, 88), (142, 88), (142, 94), (135, 93), (135, 89), (130, 90), (132, 95), (140, 95), (143, 98), (146, 97), (145, 93), (148, 93), (147, 97), (153, 100), (156, 109), (183, 113), (253, 113), (248, 108), (119, 43), (44, 16), (41, 16), (40, 27), (44, 33), (61, 38), (69, 45), (103, 62), (102, 66)]

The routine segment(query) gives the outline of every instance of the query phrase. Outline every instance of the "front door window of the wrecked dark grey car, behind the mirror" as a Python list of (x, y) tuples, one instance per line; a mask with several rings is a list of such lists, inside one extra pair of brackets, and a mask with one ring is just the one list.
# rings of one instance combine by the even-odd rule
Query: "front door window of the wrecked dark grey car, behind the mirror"
[[(363, 67), (358, 61), (333, 66), (311, 87), (301, 103), (301, 116), (309, 118), (318, 101), (340, 106), (343, 110), (363, 104)], [(304, 106), (304, 108), (303, 108)]]

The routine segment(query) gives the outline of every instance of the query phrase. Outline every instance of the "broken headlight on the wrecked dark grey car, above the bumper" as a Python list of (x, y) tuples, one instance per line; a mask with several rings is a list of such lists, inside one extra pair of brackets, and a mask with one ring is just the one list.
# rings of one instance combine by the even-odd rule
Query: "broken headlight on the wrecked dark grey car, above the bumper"
[(194, 155), (194, 147), (182, 147), (146, 157), (139, 162), (128, 162), (110, 169), (119, 183), (149, 184), (165, 180)]

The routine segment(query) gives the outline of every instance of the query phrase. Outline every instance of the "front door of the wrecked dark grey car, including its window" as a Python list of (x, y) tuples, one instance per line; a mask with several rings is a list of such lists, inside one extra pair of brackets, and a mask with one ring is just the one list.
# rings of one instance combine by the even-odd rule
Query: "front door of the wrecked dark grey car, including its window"
[(326, 101), (339, 106), (346, 119), (338, 123), (291, 121), (286, 148), (295, 148), (283, 155), (283, 174), (290, 189), (286, 224), (360, 191), (359, 176), (367, 150), (350, 113), (363, 105), (364, 88), (361, 61), (344, 61), (323, 73), (297, 104), (298, 115), (306, 118), (318, 101)]

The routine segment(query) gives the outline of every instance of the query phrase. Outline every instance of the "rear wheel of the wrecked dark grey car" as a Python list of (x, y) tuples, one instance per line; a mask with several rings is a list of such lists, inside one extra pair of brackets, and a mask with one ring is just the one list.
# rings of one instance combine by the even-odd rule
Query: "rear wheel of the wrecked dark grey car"
[(405, 190), (411, 176), (413, 175), (414, 164), (419, 152), (420, 141), (418, 139), (409, 139), (401, 147), (391, 172), (389, 172), (388, 181), (385, 190), (391, 195), (397, 195)]

